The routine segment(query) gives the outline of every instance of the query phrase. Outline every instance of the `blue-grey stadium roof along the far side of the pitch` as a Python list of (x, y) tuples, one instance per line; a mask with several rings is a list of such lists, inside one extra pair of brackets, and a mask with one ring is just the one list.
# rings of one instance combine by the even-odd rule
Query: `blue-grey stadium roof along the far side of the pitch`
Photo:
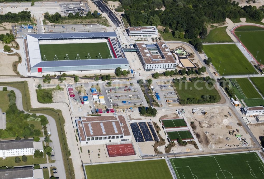
[(27, 36), (36, 39), (67, 39), (67, 38), (100, 38), (116, 37), (115, 32), (69, 32), (69, 33), (44, 33), (44, 34), (27, 34)]

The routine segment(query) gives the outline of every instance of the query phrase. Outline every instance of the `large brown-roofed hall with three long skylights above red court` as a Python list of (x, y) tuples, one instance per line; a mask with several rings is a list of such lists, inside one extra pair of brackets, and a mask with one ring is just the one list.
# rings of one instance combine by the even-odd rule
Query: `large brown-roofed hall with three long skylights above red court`
[(81, 145), (131, 141), (132, 138), (124, 116), (90, 116), (75, 122)]

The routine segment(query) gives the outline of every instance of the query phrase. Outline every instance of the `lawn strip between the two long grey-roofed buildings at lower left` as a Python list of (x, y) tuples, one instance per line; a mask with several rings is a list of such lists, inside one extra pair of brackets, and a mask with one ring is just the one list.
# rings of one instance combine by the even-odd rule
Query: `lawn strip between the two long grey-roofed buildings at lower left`
[(20, 163), (15, 163), (16, 157), (6, 157), (5, 160), (0, 158), (0, 166), (20, 166), (20, 165), (32, 165), (33, 164), (43, 164), (47, 163), (46, 156), (44, 158), (33, 158), (33, 155), (27, 155), (27, 161), (22, 161), (22, 156), (20, 156)]

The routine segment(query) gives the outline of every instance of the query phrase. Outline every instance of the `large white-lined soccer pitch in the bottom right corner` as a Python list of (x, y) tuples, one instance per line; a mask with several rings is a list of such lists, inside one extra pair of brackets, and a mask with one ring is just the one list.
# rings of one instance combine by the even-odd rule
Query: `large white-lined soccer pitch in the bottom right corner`
[(255, 152), (170, 159), (178, 179), (263, 179)]

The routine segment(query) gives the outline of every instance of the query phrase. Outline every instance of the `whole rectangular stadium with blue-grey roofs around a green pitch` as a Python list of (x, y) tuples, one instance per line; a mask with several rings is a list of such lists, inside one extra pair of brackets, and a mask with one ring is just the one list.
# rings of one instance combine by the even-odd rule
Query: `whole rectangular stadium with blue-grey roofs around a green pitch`
[(115, 32), (27, 34), (23, 43), (28, 74), (129, 68)]

